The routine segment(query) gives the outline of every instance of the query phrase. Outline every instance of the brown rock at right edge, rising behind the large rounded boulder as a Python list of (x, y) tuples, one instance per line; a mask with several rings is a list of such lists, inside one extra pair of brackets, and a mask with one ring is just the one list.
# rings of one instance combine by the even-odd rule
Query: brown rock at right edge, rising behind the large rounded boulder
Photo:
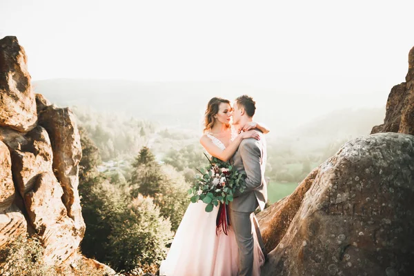
[(406, 82), (391, 89), (386, 103), (384, 124), (374, 126), (371, 134), (378, 132), (414, 135), (414, 47), (408, 54)]

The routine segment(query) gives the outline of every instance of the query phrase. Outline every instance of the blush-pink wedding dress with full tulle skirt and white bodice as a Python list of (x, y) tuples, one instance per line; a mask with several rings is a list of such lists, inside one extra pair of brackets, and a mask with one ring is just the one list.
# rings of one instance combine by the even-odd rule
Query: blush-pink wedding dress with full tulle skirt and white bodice
[[(213, 143), (224, 150), (224, 144), (207, 134)], [(232, 141), (237, 132), (232, 127)], [(232, 226), (227, 234), (219, 231), (216, 235), (218, 206), (207, 213), (203, 201), (190, 203), (179, 224), (168, 255), (161, 262), (159, 275), (166, 276), (236, 276), (238, 270), (239, 248)], [(253, 275), (260, 275), (264, 255), (257, 241), (252, 221), (254, 239)]]

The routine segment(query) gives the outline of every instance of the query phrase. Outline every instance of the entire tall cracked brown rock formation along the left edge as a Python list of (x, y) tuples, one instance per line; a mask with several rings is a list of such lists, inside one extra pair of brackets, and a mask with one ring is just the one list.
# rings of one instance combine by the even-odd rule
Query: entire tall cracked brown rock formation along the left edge
[(48, 264), (79, 259), (85, 232), (77, 190), (80, 159), (72, 112), (41, 95), (35, 100), (23, 48), (14, 37), (1, 39), (0, 248), (34, 231)]

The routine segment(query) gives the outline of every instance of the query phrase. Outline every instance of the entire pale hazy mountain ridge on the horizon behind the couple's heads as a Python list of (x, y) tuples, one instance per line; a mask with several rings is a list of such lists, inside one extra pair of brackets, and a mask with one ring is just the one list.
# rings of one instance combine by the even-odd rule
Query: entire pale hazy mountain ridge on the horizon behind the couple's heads
[(371, 100), (370, 95), (359, 95), (359, 100), (355, 100), (351, 96), (339, 97), (335, 93), (284, 94), (219, 81), (144, 83), (50, 79), (34, 81), (33, 86), (35, 92), (43, 94), (59, 106), (88, 106), (98, 111), (122, 112), (161, 125), (193, 130), (201, 130), (206, 104), (209, 99), (217, 96), (233, 100), (239, 95), (252, 95), (257, 101), (255, 119), (266, 123), (272, 130), (271, 135), (277, 136), (348, 137), (369, 133), (372, 126), (382, 123), (385, 112), (383, 107), (343, 108), (346, 101), (353, 106), (364, 106), (365, 103), (377, 100)]

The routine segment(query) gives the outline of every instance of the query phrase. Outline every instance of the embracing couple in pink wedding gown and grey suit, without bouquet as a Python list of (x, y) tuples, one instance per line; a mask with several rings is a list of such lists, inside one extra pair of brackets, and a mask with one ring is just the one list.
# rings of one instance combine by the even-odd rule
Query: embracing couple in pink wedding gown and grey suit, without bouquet
[(254, 211), (257, 207), (263, 210), (267, 200), (263, 134), (268, 130), (253, 121), (255, 110), (255, 101), (246, 95), (235, 99), (233, 108), (226, 99), (215, 97), (208, 102), (200, 143), (213, 157), (230, 161), (244, 172), (246, 187), (243, 193), (237, 191), (228, 205), (227, 235), (216, 233), (217, 206), (207, 213), (203, 201), (190, 203), (159, 275), (260, 275), (264, 244)]

